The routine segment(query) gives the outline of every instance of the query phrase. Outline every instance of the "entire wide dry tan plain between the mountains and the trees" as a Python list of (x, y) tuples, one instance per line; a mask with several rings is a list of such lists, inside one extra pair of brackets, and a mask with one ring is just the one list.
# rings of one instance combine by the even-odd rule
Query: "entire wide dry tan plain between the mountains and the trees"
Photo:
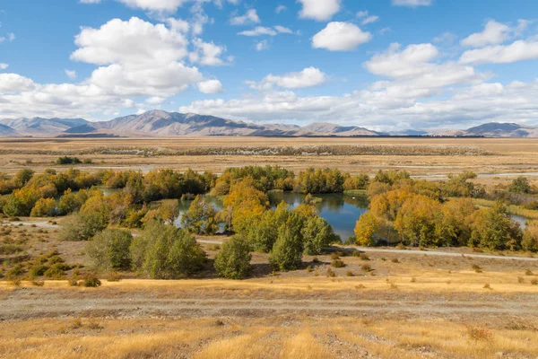
[[(356, 154), (356, 147), (368, 148)], [(240, 155), (237, 149), (264, 148), (263, 154)], [(282, 148), (306, 148), (297, 153), (278, 153)], [(332, 150), (325, 153), (325, 149)], [(312, 154), (316, 149), (321, 155)], [(353, 149), (346, 154), (346, 148)], [(235, 149), (235, 150), (234, 150)], [(387, 149), (390, 149), (388, 151)], [(152, 155), (144, 156), (143, 153)], [(161, 155), (154, 155), (161, 153)], [(190, 153), (190, 154), (188, 154)], [(205, 154), (202, 154), (205, 153)], [(213, 153), (213, 154), (212, 154)], [(230, 154), (226, 154), (230, 153)], [(430, 154), (425, 154), (430, 153)], [(463, 155), (462, 153), (470, 153)], [(490, 154), (486, 154), (490, 153)], [(178, 137), (117, 139), (0, 139), (0, 167), (14, 172), (24, 167), (37, 171), (53, 167), (59, 155), (89, 158), (80, 165), (87, 171), (172, 168), (224, 171), (249, 164), (278, 164), (294, 171), (308, 167), (338, 167), (351, 173), (379, 169), (405, 169), (414, 175), (528, 172), (538, 168), (538, 139), (486, 138), (259, 138)], [(65, 168), (65, 167), (64, 167)]]

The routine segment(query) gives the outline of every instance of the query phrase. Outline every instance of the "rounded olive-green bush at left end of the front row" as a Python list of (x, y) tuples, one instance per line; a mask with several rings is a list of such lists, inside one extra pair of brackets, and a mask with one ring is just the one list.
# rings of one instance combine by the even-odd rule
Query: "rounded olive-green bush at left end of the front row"
[(133, 241), (131, 232), (104, 230), (86, 244), (86, 254), (97, 269), (127, 270), (131, 267), (129, 253), (131, 241)]

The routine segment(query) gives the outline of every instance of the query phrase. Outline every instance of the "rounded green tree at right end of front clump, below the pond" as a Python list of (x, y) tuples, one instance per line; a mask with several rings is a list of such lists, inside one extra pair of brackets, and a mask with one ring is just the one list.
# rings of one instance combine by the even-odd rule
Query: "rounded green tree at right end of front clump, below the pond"
[(333, 227), (320, 216), (309, 217), (301, 229), (304, 253), (308, 255), (321, 254), (325, 247), (336, 241)]

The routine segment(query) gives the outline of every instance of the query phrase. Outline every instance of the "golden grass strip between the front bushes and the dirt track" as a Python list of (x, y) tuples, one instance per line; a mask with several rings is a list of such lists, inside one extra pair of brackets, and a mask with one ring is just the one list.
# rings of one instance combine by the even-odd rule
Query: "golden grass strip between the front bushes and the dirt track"
[[(351, 258), (346, 258), (349, 262)], [(536, 263), (529, 263), (534, 267)], [(346, 291), (355, 290), (357, 285), (364, 285), (370, 291), (386, 291), (387, 283), (393, 283), (401, 292), (419, 293), (483, 293), (484, 284), (489, 283), (496, 293), (538, 293), (538, 286), (529, 281), (519, 283), (518, 276), (522, 270), (489, 271), (476, 273), (471, 264), (468, 269), (446, 270), (430, 268), (425, 270), (413, 264), (400, 264), (398, 273), (390, 276), (269, 276), (265, 278), (233, 281), (225, 279), (187, 279), (187, 280), (151, 280), (122, 279), (119, 282), (102, 280), (101, 288), (114, 288), (122, 291), (162, 290), (237, 290), (237, 291)], [(414, 278), (414, 281), (412, 280)], [(450, 285), (447, 285), (447, 282)], [(22, 282), (22, 287), (30, 287), (30, 282)], [(67, 281), (45, 281), (44, 288), (70, 288), (74, 291), (99, 291), (100, 288), (69, 287)], [(0, 290), (9, 290), (13, 285), (0, 281)]]

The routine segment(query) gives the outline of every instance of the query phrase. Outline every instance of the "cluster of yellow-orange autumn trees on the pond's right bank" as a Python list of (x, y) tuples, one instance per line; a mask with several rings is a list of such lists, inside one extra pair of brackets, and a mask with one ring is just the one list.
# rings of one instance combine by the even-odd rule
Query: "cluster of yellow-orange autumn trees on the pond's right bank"
[(535, 224), (522, 232), (500, 201), (491, 208), (473, 205), (472, 197), (488, 194), (470, 181), (476, 178), (472, 172), (446, 182), (389, 177), (376, 177), (369, 186), (369, 212), (360, 217), (355, 228), (360, 245), (391, 241), (422, 247), (538, 250)]

